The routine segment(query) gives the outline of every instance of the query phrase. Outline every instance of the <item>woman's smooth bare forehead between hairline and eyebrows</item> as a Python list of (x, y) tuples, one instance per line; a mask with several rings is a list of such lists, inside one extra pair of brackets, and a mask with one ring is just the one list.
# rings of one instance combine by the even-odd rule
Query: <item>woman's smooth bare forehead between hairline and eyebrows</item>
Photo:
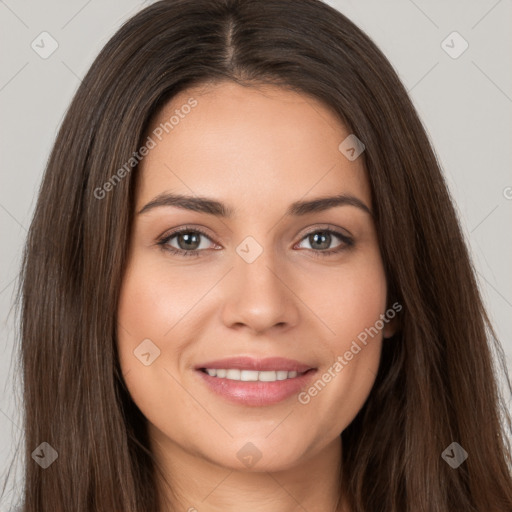
[(155, 145), (139, 166), (137, 203), (173, 191), (233, 205), (251, 198), (260, 208), (261, 201), (342, 192), (370, 204), (362, 158), (350, 161), (338, 148), (348, 135), (331, 109), (306, 94), (232, 82), (190, 88), (151, 122)]

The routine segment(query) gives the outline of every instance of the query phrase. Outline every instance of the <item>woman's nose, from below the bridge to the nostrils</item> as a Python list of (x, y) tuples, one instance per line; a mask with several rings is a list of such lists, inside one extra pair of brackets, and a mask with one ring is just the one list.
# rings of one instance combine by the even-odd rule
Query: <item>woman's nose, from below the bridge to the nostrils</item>
[(299, 321), (300, 299), (294, 293), (293, 275), (270, 249), (252, 262), (235, 254), (223, 293), (222, 320), (230, 328), (245, 326), (256, 334), (284, 331)]

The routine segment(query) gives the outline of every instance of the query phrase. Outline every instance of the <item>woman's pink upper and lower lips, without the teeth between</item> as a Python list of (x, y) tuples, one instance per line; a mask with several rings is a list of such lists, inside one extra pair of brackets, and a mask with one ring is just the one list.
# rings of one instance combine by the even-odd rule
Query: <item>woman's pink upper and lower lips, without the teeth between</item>
[[(244, 382), (211, 377), (206, 372), (201, 371), (204, 368), (233, 368), (256, 371), (286, 370), (306, 373), (292, 379), (275, 382)], [(202, 382), (217, 396), (221, 396), (228, 402), (249, 407), (264, 407), (277, 404), (298, 394), (301, 389), (307, 387), (317, 372), (316, 368), (292, 359), (281, 357), (255, 359), (243, 356), (209, 361), (198, 365), (195, 370)]]

